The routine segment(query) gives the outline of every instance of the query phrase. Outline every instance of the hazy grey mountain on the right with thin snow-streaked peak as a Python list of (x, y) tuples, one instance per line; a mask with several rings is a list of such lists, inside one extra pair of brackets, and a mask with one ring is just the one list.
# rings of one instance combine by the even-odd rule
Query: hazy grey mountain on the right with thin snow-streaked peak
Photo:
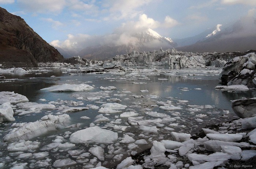
[(176, 49), (184, 52), (199, 53), (256, 50), (256, 19), (254, 17), (243, 17), (224, 29), (217, 25), (211, 34), (209, 32), (211, 31), (176, 40), (175, 42), (179, 46)]

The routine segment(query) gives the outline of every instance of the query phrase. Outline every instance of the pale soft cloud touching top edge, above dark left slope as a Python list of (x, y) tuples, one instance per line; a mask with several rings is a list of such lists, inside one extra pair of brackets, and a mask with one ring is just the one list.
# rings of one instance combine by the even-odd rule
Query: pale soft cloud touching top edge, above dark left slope
[(32, 13), (60, 13), (66, 5), (65, 0), (17, 0), (19, 6)]

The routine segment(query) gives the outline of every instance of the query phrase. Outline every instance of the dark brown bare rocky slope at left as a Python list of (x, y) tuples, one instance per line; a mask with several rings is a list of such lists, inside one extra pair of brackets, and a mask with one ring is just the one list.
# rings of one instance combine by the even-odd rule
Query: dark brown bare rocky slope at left
[(43, 40), (19, 16), (0, 7), (0, 65), (36, 67), (37, 62), (56, 62), (63, 56)]

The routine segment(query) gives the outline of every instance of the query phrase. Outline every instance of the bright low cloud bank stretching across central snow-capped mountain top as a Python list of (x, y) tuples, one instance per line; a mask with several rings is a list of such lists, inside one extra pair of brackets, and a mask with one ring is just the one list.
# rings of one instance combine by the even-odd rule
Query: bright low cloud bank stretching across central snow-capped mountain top
[[(142, 14), (138, 17), (137, 21), (127, 21), (123, 23), (119, 28), (116, 28), (110, 35), (104, 36), (90, 36), (85, 34), (79, 35), (68, 35), (68, 38), (64, 42), (58, 40), (52, 41), (51, 44), (56, 47), (63, 47), (67, 49), (75, 48), (77, 51), (90, 46), (100, 46), (108, 44), (109, 46), (120, 46), (120, 45), (136, 45), (138, 39), (136, 34), (148, 30), (149, 28), (170, 28), (179, 24), (178, 21), (172, 19), (170, 16), (166, 16), (164, 22), (161, 23), (156, 21), (146, 14)], [(152, 41), (146, 44), (148, 47), (159, 45), (159, 41)]]

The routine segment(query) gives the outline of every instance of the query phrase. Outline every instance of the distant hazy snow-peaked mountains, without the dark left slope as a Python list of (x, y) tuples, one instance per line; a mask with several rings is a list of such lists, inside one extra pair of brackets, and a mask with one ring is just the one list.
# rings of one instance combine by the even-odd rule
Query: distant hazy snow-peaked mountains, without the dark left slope
[(176, 48), (184, 52), (234, 52), (256, 50), (256, 19), (243, 17), (234, 24), (218, 24), (212, 29), (205, 30), (199, 35), (184, 39), (166, 38), (148, 29), (131, 35), (132, 43), (108, 43), (86, 47), (82, 50), (64, 50), (56, 47), (64, 57), (79, 55), (85, 59), (106, 60), (116, 55), (127, 54), (131, 51), (153, 51), (162, 48)]

